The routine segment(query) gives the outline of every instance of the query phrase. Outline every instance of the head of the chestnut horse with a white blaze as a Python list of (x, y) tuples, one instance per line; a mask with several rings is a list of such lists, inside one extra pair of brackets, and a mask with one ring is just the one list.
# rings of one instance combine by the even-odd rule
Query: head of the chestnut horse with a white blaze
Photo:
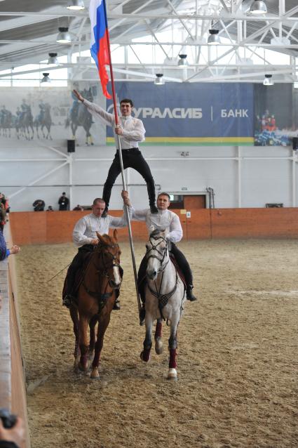
[(100, 275), (107, 277), (109, 286), (112, 289), (119, 289), (121, 286), (121, 250), (118, 246), (117, 230), (114, 230), (113, 237), (109, 235), (100, 235), (96, 232), (98, 238), (97, 248), (97, 268)]

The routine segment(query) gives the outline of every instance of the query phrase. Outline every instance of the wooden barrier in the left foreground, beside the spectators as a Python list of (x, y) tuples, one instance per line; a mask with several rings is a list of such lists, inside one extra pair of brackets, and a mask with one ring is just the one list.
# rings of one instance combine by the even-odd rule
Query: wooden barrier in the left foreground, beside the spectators
[[(6, 225), (5, 236), (11, 246), (8, 225)], [(0, 407), (9, 409), (25, 421), (27, 440), (20, 448), (29, 448), (25, 374), (22, 367), (13, 257), (0, 261)]]

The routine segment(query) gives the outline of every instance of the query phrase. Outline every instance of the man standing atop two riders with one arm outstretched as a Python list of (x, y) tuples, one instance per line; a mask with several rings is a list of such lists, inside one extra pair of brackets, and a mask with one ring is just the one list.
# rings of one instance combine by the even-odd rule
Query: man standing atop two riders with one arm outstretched
[[(142, 156), (142, 152), (139, 150), (139, 143), (145, 140), (145, 129), (142, 120), (131, 116), (133, 110), (133, 101), (126, 98), (121, 100), (121, 124), (115, 126), (115, 117), (113, 114), (109, 114), (102, 107), (95, 103), (90, 103), (76, 90), (74, 90), (76, 98), (78, 98), (95, 117), (99, 117), (105, 124), (112, 126), (114, 135), (120, 136), (121, 150), (123, 158), (123, 167), (133, 168), (144, 178), (147, 183), (147, 191), (149, 196), (149, 206), (151, 213), (157, 213), (158, 210), (155, 205), (155, 185), (154, 178), (152, 177), (149, 165)], [(117, 139), (115, 138), (117, 142)], [(113, 187), (117, 176), (121, 173), (121, 166), (117, 152), (114, 160), (110, 166), (107, 180), (104, 183), (104, 191), (102, 198), (106, 203), (105, 212), (109, 209), (109, 198), (111, 197), (111, 188)]]

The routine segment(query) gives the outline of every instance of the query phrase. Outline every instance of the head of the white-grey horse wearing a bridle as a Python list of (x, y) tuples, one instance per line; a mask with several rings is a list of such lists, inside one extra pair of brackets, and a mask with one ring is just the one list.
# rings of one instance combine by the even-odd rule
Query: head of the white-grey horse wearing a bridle
[(147, 277), (155, 280), (159, 272), (165, 269), (169, 261), (168, 241), (165, 238), (165, 230), (153, 230), (149, 236), (147, 249)]

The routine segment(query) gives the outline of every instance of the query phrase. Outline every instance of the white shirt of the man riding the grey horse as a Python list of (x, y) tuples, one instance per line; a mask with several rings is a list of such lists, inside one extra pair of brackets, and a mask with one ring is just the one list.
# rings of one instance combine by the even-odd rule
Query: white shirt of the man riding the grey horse
[(173, 243), (180, 242), (183, 237), (179, 216), (173, 211), (158, 209), (158, 213), (151, 213), (150, 209), (135, 210), (133, 208), (133, 220), (146, 221), (149, 235), (153, 225), (156, 230), (165, 230), (165, 238)]

